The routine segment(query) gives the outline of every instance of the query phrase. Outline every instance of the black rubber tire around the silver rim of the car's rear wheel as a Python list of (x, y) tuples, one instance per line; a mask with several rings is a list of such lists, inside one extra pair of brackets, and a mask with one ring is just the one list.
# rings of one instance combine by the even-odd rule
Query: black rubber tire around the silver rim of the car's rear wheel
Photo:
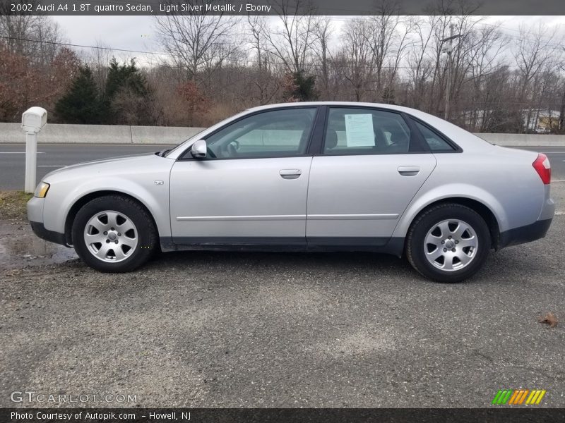
[[(477, 237), (477, 246), (475, 247), (474, 255), (470, 262), (463, 266), (463, 262), (456, 262), (458, 259), (451, 259), (453, 267), (457, 265), (463, 266), (460, 269), (453, 269), (451, 271), (439, 269), (430, 262), (426, 257), (426, 249), (430, 247), (433, 249), (433, 245), (425, 243), (428, 232), (432, 231), (438, 223), (448, 221), (449, 219), (466, 223), (472, 231), (475, 232), (475, 236)], [(468, 235), (469, 233), (466, 234)], [(439, 236), (440, 240), (441, 238), (443, 238), (443, 234)], [(446, 245), (444, 244), (442, 246)], [(457, 247), (457, 245), (454, 246), (453, 252), (456, 251)], [(430, 207), (417, 216), (408, 231), (405, 248), (408, 262), (410, 262), (414, 269), (420, 274), (436, 282), (456, 283), (470, 278), (481, 269), (489, 255), (491, 237), (487, 223), (485, 223), (484, 219), (482, 219), (480, 214), (475, 212), (475, 210), (461, 204), (446, 203)], [(442, 251), (445, 250), (442, 249)], [(470, 250), (466, 251), (469, 252)], [(439, 252), (439, 254), (441, 254), (441, 252)], [(449, 252), (447, 252), (447, 254), (449, 254)], [(458, 254), (460, 255), (460, 252), (458, 252)], [(439, 261), (435, 263), (440, 265), (441, 259), (438, 260)]]

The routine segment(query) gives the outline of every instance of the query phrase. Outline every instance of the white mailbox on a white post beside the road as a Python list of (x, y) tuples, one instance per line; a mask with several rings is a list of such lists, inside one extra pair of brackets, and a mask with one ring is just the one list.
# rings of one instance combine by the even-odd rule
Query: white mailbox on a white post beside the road
[(25, 192), (35, 192), (37, 165), (37, 133), (47, 123), (47, 110), (30, 107), (22, 114), (22, 129), (25, 131)]

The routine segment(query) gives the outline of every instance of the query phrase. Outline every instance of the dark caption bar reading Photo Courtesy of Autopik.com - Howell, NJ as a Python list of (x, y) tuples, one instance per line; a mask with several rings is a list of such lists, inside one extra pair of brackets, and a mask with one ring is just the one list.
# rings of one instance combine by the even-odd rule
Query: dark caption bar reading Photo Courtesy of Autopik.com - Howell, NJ
[(357, 423), (357, 422), (564, 422), (565, 410), (559, 408), (492, 407), (478, 408), (4, 408), (2, 423)]

